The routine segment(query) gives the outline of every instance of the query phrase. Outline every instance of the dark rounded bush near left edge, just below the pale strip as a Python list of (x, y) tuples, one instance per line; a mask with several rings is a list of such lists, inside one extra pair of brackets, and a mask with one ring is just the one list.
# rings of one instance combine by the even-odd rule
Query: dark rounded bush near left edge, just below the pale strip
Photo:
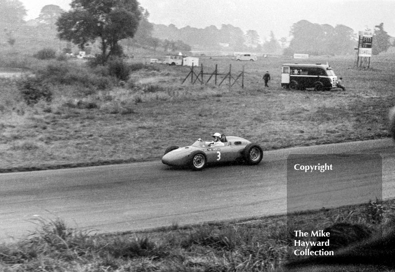
[(50, 102), (52, 91), (48, 83), (41, 78), (26, 78), (19, 85), (20, 93), (26, 104), (37, 104), (40, 101)]

